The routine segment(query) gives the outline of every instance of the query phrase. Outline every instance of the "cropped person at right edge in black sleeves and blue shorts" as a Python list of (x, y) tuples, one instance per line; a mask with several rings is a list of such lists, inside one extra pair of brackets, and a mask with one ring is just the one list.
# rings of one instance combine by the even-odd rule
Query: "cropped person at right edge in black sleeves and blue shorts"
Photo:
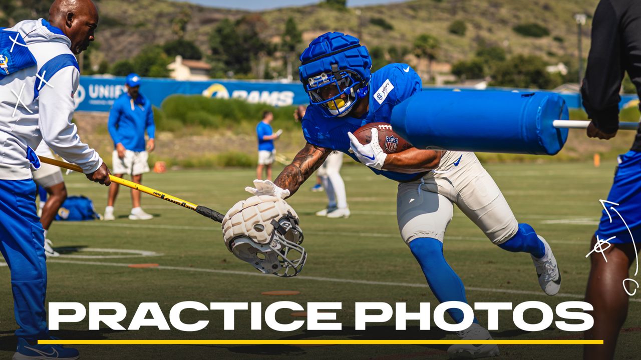
[[(583, 106), (592, 120), (587, 129), (589, 137), (607, 140), (617, 134), (619, 89), (625, 72), (641, 94), (641, 2), (601, 0), (592, 20), (592, 48), (581, 86)], [(628, 314), (628, 293), (640, 291), (638, 283), (629, 279), (629, 267), (641, 245), (637, 242), (635, 246), (631, 237), (641, 240), (641, 129), (630, 151), (619, 156), (608, 201), (614, 204), (604, 205), (590, 249), (594, 249), (597, 236), (611, 245), (603, 244), (602, 254), (592, 252), (585, 296), (594, 306), (594, 327), (585, 338), (604, 343), (587, 345), (584, 359), (614, 357), (617, 337)]]

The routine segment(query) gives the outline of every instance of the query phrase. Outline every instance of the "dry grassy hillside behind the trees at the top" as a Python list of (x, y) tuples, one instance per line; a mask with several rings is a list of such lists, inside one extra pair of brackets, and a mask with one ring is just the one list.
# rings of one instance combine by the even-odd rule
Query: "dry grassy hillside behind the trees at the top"
[[(15, 6), (28, 3), (26, 0), (6, 1)], [(437, 57), (440, 62), (453, 63), (470, 58), (479, 46), (485, 44), (504, 47), (508, 55), (536, 54), (549, 63), (556, 63), (576, 58), (577, 26), (572, 16), (574, 13), (592, 14), (597, 3), (598, 0), (415, 0), (344, 10), (311, 5), (251, 13), (166, 0), (99, 0), (97, 4), (101, 21), (96, 34), (97, 46), (92, 49), (91, 56), (113, 63), (135, 56), (144, 45), (174, 40), (177, 37), (172, 20), (187, 13), (190, 20), (185, 38), (196, 42), (205, 54), (209, 53), (208, 36), (216, 24), (225, 18), (238, 19), (253, 14), (265, 20), (261, 35), (271, 38), (272, 42), (279, 41), (285, 21), (293, 17), (303, 31), (303, 44), (299, 45), (301, 49), (312, 38), (326, 31), (360, 35), (368, 47), (380, 46), (384, 49), (390, 46), (411, 49), (417, 35), (429, 33), (440, 40), (441, 49)], [(3, 13), (0, 12), (0, 20), (5, 24), (20, 20), (5, 19)], [(18, 8), (14, 15), (24, 18), (35, 16), (36, 13)], [(375, 22), (383, 19), (393, 29), (372, 24), (372, 19)], [(465, 22), (467, 31), (464, 36), (449, 33), (449, 25), (454, 20)], [(523, 37), (512, 29), (531, 22), (549, 29), (549, 36)], [(585, 57), (590, 45), (589, 16), (586, 26), (583, 26), (583, 35)], [(414, 60), (410, 56), (407, 61)]]

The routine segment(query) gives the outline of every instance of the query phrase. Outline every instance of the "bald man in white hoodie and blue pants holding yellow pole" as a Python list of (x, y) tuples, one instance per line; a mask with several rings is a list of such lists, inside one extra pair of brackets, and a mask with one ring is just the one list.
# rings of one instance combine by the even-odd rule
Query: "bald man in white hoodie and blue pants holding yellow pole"
[(0, 250), (11, 270), (19, 329), (13, 359), (77, 359), (78, 351), (48, 340), (44, 231), (35, 208), (31, 167), (41, 139), (87, 178), (110, 183), (109, 170), (81, 142), (71, 122), (79, 67), (74, 54), (94, 40), (98, 12), (90, 0), (56, 0), (49, 21), (24, 20), (0, 31)]

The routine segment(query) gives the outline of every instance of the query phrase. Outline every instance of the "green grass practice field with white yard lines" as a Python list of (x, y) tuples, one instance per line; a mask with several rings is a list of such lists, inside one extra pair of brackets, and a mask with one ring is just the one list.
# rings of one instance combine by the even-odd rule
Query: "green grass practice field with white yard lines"
[[(559, 302), (581, 300), (588, 274), (588, 242), (600, 217), (599, 199), (604, 199), (612, 183), (614, 161), (600, 168), (591, 163), (492, 164), (494, 176), (520, 222), (528, 222), (549, 241), (563, 274), (562, 294), (547, 297), (540, 290), (531, 259), (492, 245), (458, 209), (445, 235), (445, 256), (467, 286), (469, 302), (513, 302), (538, 300), (555, 306)], [(276, 169), (278, 173), (279, 169)], [(220, 225), (187, 209), (149, 196), (144, 208), (156, 215), (153, 220), (133, 222), (126, 218), (129, 194), (121, 189), (114, 222), (56, 222), (49, 238), (54, 247), (76, 247), (64, 257), (48, 261), (49, 302), (122, 302), (128, 315), (126, 327), (140, 302), (158, 302), (169, 318), (173, 304), (193, 300), (209, 302), (263, 302), (277, 300), (306, 302), (340, 301), (340, 332), (294, 332), (249, 330), (249, 312), (236, 316), (235, 331), (222, 330), (222, 311), (185, 311), (183, 321), (210, 320), (203, 331), (180, 332), (144, 329), (87, 331), (88, 322), (63, 324), (53, 332), (63, 339), (455, 339), (440, 330), (420, 331), (418, 322), (409, 322), (408, 331), (395, 331), (394, 320), (372, 325), (366, 331), (354, 330), (354, 302), (407, 302), (408, 311), (417, 311), (419, 302), (437, 301), (412, 254), (401, 240), (395, 220), (396, 184), (374, 176), (364, 167), (343, 171), (349, 206), (347, 219), (331, 220), (313, 213), (326, 204), (324, 193), (308, 191), (304, 184), (290, 204), (301, 217), (308, 262), (301, 276), (281, 279), (259, 276), (250, 265), (225, 249)], [(79, 174), (67, 176), (69, 193), (91, 197), (102, 212), (106, 188), (89, 183)], [(149, 174), (144, 183), (172, 195), (226, 211), (237, 200), (247, 197), (244, 187), (254, 179), (253, 170), (184, 170)], [(117, 249), (106, 253), (104, 250)], [(144, 250), (147, 255), (120, 250)], [(79, 257), (79, 256), (85, 256)], [(101, 258), (115, 256), (115, 258)], [(124, 256), (131, 256), (125, 258)], [(159, 268), (129, 268), (129, 264), (158, 263)], [(10, 276), (0, 267), (0, 358), (8, 359), (15, 349)], [(298, 290), (291, 297), (265, 297), (262, 291)], [(638, 359), (641, 323), (641, 297), (630, 304), (628, 331), (619, 338), (618, 359)], [(582, 334), (556, 328), (537, 333), (519, 330), (511, 312), (500, 318), (497, 340), (579, 339)], [(487, 324), (487, 315), (479, 313)], [(526, 313), (538, 322), (536, 311)], [(279, 311), (281, 322), (294, 320), (290, 311)], [(445, 359), (447, 346), (418, 345), (341, 345), (295, 347), (279, 345), (182, 346), (182, 345), (85, 345), (78, 346), (82, 359)], [(503, 359), (578, 359), (580, 346), (502, 346)]]

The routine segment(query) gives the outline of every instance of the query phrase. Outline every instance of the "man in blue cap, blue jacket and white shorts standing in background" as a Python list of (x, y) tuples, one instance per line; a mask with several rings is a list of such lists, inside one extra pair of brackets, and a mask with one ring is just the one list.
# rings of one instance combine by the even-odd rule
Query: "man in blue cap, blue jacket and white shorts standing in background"
[[(154, 151), (154, 113), (149, 99), (140, 94), (140, 76), (129, 74), (125, 81), (126, 92), (113, 103), (109, 113), (109, 135), (112, 136), (113, 174), (122, 177), (131, 176), (131, 181), (142, 184), (142, 174), (149, 172), (149, 154), (145, 151), (145, 130), (149, 140), (147, 149)], [(113, 183), (109, 188), (107, 207), (104, 209), (104, 220), (114, 220), (113, 204), (118, 195), (119, 185)], [(130, 220), (149, 220), (153, 215), (147, 214), (140, 208), (140, 192), (131, 189)]]

